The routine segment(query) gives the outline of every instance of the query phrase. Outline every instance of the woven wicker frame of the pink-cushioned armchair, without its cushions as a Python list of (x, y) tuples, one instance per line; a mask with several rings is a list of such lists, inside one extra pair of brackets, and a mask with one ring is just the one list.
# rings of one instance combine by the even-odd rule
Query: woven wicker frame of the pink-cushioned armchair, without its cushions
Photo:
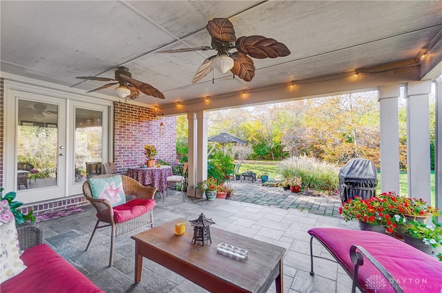
[[(94, 178), (107, 178), (111, 176), (115, 176), (115, 174), (98, 175), (94, 176)], [(157, 188), (143, 186), (140, 183), (138, 183), (138, 181), (136, 181), (135, 179), (132, 179), (131, 177), (125, 175), (119, 175), (119, 176), (122, 177), (123, 189), (126, 196), (133, 196), (135, 199), (153, 199), (153, 196), (155, 195)], [(84, 251), (87, 251), (89, 249), (89, 245), (92, 242), (93, 236), (97, 229), (111, 226), (111, 254), (109, 256), (109, 266), (113, 264), (113, 243), (115, 241), (115, 238), (122, 236), (133, 230), (142, 228), (146, 225), (151, 225), (151, 228), (153, 228), (152, 209), (146, 212), (145, 214), (137, 216), (128, 221), (117, 223), (114, 219), (114, 210), (111, 203), (109, 203), (109, 201), (107, 201), (106, 199), (95, 199), (92, 196), (92, 191), (90, 190), (89, 181), (85, 181), (83, 183), (83, 194), (86, 197), (86, 199), (88, 199), (88, 201), (90, 201), (90, 203), (97, 210), (97, 218), (98, 218), (97, 223), (95, 224), (95, 228), (92, 232), (92, 235), (90, 235), (90, 239), (88, 245), (86, 246), (86, 250)], [(100, 222), (104, 222), (106, 223), (106, 225), (99, 226)]]

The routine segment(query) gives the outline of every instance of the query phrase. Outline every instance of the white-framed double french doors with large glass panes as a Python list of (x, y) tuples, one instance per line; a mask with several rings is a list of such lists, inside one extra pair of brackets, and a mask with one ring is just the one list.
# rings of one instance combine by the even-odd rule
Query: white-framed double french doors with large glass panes
[(108, 161), (110, 107), (12, 89), (7, 101), (5, 191), (23, 203), (81, 194), (88, 167)]

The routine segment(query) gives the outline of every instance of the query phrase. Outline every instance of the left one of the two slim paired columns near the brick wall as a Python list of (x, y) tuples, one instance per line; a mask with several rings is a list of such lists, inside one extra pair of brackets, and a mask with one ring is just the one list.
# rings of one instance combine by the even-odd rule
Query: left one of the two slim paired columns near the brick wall
[(187, 186), (187, 196), (195, 197), (195, 181), (196, 181), (196, 138), (197, 138), (197, 120), (195, 112), (188, 112), (187, 113), (187, 121), (188, 121), (188, 165), (187, 165), (187, 174), (188, 174), (188, 181), (189, 184)]

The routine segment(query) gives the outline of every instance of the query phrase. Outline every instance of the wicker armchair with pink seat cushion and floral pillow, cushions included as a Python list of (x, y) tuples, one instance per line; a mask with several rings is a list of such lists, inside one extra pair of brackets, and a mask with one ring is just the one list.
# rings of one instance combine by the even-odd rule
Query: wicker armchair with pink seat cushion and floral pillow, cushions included
[[(121, 179), (119, 183), (118, 178)], [(119, 204), (115, 203), (113, 199), (104, 199), (106, 197), (106, 188), (102, 192), (97, 192), (98, 183), (109, 183), (115, 180), (115, 188), (109, 188), (111, 191), (119, 190), (125, 196), (122, 201), (125, 201), (126, 196), (132, 196), (135, 199)], [(92, 182), (92, 183), (91, 183)], [(91, 187), (92, 185), (92, 187)], [(109, 184), (112, 186), (112, 183)], [(113, 264), (113, 244), (117, 237), (122, 236), (133, 230), (140, 229), (146, 225), (151, 225), (153, 228), (153, 208), (155, 207), (155, 199), (153, 196), (157, 188), (143, 186), (135, 179), (120, 174), (104, 174), (97, 175), (88, 179), (83, 183), (83, 194), (90, 201), (90, 203), (97, 210), (97, 223), (90, 235), (90, 239), (86, 249), (89, 249), (95, 231), (99, 228), (111, 226), (111, 252), (109, 255), (109, 266)], [(115, 197), (114, 197), (115, 199)], [(106, 223), (99, 225), (100, 222)]]

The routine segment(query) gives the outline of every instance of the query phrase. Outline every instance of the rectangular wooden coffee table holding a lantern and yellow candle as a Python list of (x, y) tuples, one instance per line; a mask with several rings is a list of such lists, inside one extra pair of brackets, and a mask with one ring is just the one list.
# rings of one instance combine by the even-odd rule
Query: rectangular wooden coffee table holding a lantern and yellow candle
[[(186, 232), (175, 235), (175, 222), (184, 221)], [(192, 244), (193, 227), (175, 219), (132, 236), (135, 240), (135, 283), (140, 283), (143, 257), (200, 285), (210, 292), (267, 292), (273, 280), (282, 293), (282, 257), (285, 248), (242, 235), (210, 228), (212, 243)], [(218, 252), (219, 243), (248, 250), (246, 259)]]

